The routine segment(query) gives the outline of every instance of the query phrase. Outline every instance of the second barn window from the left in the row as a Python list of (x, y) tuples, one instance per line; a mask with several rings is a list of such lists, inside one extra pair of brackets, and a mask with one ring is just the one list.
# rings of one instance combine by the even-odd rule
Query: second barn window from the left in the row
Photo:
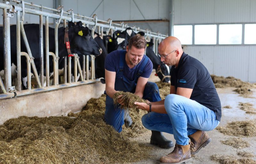
[(217, 25), (195, 25), (195, 44), (216, 44)]

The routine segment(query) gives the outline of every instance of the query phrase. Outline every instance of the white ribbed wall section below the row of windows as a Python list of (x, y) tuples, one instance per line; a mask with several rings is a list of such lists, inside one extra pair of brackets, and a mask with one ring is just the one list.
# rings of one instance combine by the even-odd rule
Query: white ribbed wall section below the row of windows
[(183, 50), (201, 61), (210, 74), (256, 82), (256, 46), (184, 46)]

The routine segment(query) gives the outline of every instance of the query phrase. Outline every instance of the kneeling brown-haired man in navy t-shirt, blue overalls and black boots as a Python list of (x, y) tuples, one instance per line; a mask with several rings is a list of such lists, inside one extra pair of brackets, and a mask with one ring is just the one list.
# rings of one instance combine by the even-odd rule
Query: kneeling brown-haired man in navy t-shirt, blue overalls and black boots
[[(117, 91), (131, 92), (150, 102), (161, 100), (156, 83), (148, 82), (153, 64), (144, 55), (146, 47), (145, 38), (135, 35), (129, 40), (126, 51), (113, 51), (105, 59), (105, 94), (107, 95), (104, 117), (106, 123), (119, 133), (124, 124), (124, 110), (113, 104), (113, 95)], [(119, 98), (118, 102), (121, 103), (122, 99)], [(172, 141), (167, 140), (158, 130), (152, 131), (150, 143), (162, 148), (173, 147)]]

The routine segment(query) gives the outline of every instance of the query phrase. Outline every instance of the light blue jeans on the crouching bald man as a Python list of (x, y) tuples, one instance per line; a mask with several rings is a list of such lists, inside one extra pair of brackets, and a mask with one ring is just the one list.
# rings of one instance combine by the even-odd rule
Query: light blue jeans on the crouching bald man
[(173, 134), (176, 144), (187, 145), (189, 135), (197, 130), (210, 131), (220, 123), (212, 110), (180, 95), (167, 95), (164, 107), (167, 114), (147, 113), (141, 121), (149, 130)]

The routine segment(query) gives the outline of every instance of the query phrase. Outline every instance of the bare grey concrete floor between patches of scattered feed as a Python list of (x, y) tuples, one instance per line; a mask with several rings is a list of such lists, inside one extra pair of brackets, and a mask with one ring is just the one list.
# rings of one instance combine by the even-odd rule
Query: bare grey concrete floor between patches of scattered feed
[[(254, 89), (252, 97), (255, 98), (243, 98), (240, 97), (236, 92), (234, 92), (235, 88), (225, 88), (225, 89), (220, 89), (218, 88), (218, 94), (220, 97), (221, 101), (221, 106), (232, 106), (231, 109), (227, 108), (222, 108), (222, 118), (219, 126), (225, 126), (227, 122), (232, 122), (232, 121), (244, 121), (244, 120), (252, 120), (256, 119), (256, 115), (252, 114), (246, 114), (245, 111), (239, 109), (239, 102), (243, 103), (252, 103), (253, 107), (256, 108), (256, 90)], [(248, 148), (243, 148), (243, 149), (236, 149), (233, 148), (232, 146), (224, 145), (220, 141), (221, 140), (226, 140), (228, 138), (232, 138), (233, 136), (227, 136), (222, 133), (220, 133), (218, 130), (212, 130), (207, 132), (209, 136), (212, 138), (212, 142), (208, 144), (206, 147), (202, 148), (198, 153), (196, 153), (195, 157), (192, 158), (192, 160), (189, 162), (191, 164), (217, 164), (217, 162), (214, 162), (210, 160), (210, 156), (213, 154), (220, 154), (220, 155), (236, 155), (238, 151), (246, 151), (253, 153), (255, 157), (253, 160), (256, 160), (256, 137), (242, 137), (242, 139), (246, 140), (249, 142), (251, 145)], [(150, 135), (151, 132), (148, 131), (147, 133), (141, 134), (140, 136), (136, 138), (132, 138), (132, 140), (136, 140), (140, 143), (143, 144), (149, 144), (150, 141)], [(168, 139), (171, 139), (174, 143), (175, 140), (173, 138), (173, 135), (164, 133), (164, 136)], [(161, 149), (156, 146), (152, 146), (153, 150), (151, 153), (151, 156), (148, 157), (147, 160), (135, 162), (132, 164), (158, 164), (159, 159), (161, 156), (167, 155), (168, 153), (172, 152), (173, 148), (170, 149)], [(143, 153), (143, 152), (141, 152)], [(238, 156), (237, 156), (238, 158)], [(128, 164), (128, 163), (126, 163)]]

